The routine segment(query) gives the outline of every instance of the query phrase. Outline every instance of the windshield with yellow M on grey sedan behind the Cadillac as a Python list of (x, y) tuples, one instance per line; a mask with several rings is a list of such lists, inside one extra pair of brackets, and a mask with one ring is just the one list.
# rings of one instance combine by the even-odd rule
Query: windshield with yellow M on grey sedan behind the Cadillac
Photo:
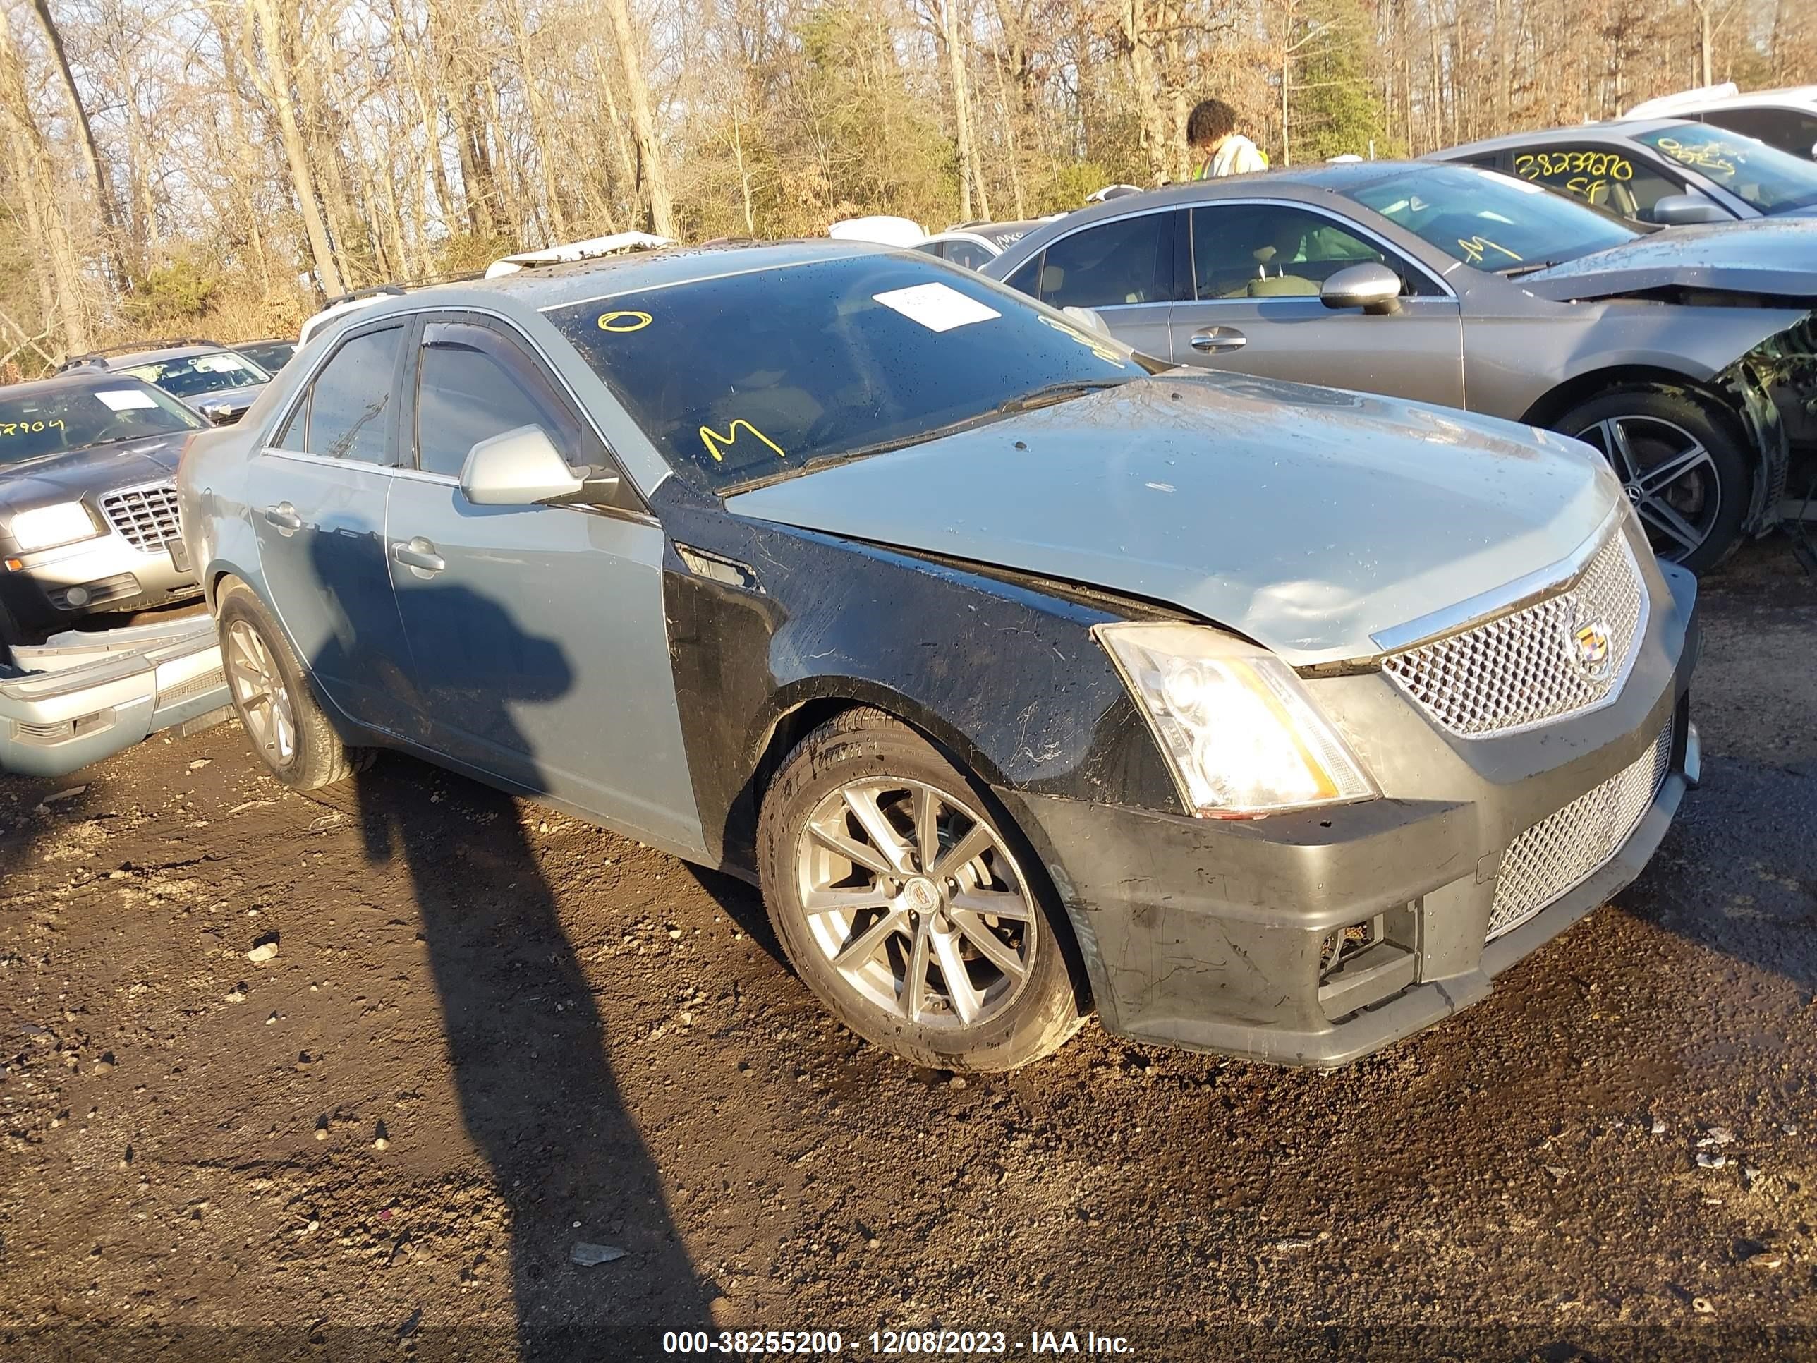
[(1486, 271), (1557, 265), (1637, 236), (1583, 204), (1470, 165), (1423, 165), (1345, 194)]

